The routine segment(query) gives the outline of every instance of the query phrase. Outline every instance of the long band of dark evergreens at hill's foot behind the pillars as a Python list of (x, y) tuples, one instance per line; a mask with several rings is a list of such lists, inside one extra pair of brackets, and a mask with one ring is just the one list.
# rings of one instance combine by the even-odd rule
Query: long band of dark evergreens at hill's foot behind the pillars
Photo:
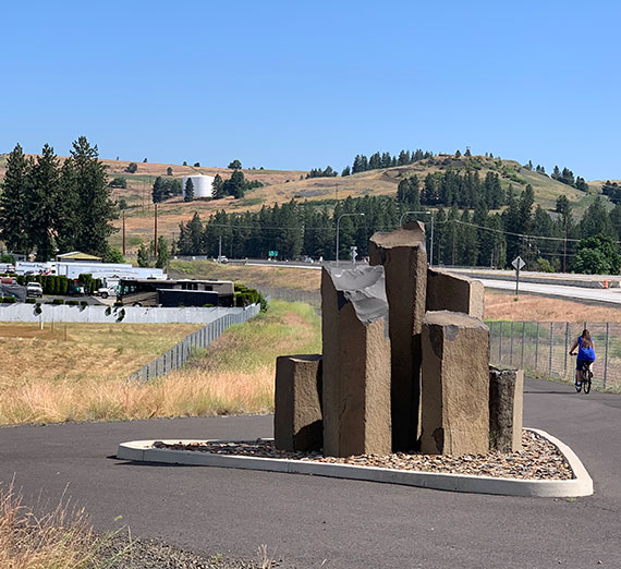
[(387, 196), (348, 197), (333, 210), (326, 205), (295, 201), (264, 206), (257, 213), (221, 210), (205, 222), (195, 214), (180, 225), (175, 254), (216, 256), (221, 243), (222, 252), (231, 258), (266, 258), (269, 251), (278, 251), (279, 258), (309, 255), (334, 259), (339, 219), (340, 258), (349, 257), (352, 245), (357, 246), (360, 256), (368, 255), (368, 240), (374, 232), (393, 230), (405, 219), (426, 222), (430, 252), (433, 217), (435, 265), (508, 268), (520, 255), (529, 270), (619, 273), (616, 255), (621, 238), (621, 204), (608, 213), (604, 201), (597, 197), (576, 221), (565, 196), (558, 198), (553, 218), (535, 206), (529, 185), (521, 193), (510, 189), (506, 202), (501, 214), (490, 213), (483, 199), (473, 209), (460, 209), (453, 203), (451, 207), (430, 210), (416, 202)]

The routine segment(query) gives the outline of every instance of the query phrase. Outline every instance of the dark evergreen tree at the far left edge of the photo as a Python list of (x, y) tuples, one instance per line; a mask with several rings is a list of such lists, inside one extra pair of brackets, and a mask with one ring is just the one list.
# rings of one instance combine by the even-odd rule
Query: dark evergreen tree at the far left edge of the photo
[(17, 144), (7, 160), (7, 173), (0, 193), (0, 239), (14, 253), (31, 252), (27, 219), (26, 191), (29, 162)]

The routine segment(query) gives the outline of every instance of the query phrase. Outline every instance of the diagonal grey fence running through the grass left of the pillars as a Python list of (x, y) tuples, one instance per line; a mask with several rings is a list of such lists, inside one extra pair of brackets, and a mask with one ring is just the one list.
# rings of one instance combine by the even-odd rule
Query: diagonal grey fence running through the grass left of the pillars
[(173, 370), (179, 370), (186, 362), (195, 348), (209, 346), (229, 326), (242, 324), (256, 316), (259, 312), (259, 304), (251, 304), (244, 308), (230, 308), (230, 311), (220, 318), (190, 334), (176, 346), (168, 350), (168, 352), (162, 353), (155, 360), (143, 365), (143, 367), (130, 376), (130, 380), (137, 379), (139, 382), (148, 382), (160, 375), (166, 375)]

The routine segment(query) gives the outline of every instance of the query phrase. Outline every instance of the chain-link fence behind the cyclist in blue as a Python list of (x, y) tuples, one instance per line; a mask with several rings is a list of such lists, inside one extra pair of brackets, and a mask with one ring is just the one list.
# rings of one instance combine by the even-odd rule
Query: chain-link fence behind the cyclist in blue
[(492, 365), (514, 366), (534, 375), (573, 382), (575, 356), (569, 351), (587, 328), (597, 361), (593, 382), (606, 388), (621, 387), (621, 324), (569, 322), (492, 322), (489, 350)]

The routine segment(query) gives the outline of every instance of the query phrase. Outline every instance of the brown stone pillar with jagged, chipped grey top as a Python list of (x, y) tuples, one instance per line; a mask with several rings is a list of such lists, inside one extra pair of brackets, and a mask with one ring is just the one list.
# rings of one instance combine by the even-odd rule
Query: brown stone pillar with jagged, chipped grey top
[(321, 269), (324, 455), (388, 455), (390, 339), (383, 267)]

